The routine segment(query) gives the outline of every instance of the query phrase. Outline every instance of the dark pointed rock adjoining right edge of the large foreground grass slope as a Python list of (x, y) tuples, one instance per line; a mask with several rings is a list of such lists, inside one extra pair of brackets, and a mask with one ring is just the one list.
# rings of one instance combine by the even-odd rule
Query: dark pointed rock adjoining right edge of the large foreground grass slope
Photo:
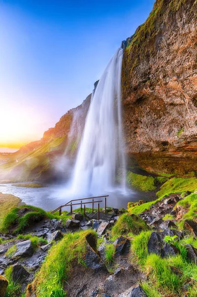
[(93, 270), (106, 269), (105, 264), (99, 255), (89, 245), (87, 245), (85, 254), (85, 264)]

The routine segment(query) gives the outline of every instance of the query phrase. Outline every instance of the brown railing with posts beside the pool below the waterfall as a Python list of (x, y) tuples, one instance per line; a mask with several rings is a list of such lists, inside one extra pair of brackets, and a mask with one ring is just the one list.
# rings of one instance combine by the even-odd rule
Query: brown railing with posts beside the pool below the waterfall
[[(52, 210), (50, 213), (54, 213), (56, 211), (59, 210), (59, 215), (62, 214), (62, 208), (63, 207), (67, 207), (67, 206), (70, 206), (71, 207), (71, 210), (70, 210), (70, 213), (72, 214), (73, 213), (73, 205), (80, 205), (80, 211), (82, 212), (82, 205), (84, 204), (84, 214), (85, 214), (85, 204), (88, 204), (88, 203), (92, 203), (92, 212), (94, 212), (94, 203), (98, 203), (98, 220), (99, 220), (99, 216), (100, 216), (100, 202), (103, 202), (103, 200), (94, 200), (95, 198), (104, 198), (105, 197), (105, 213), (107, 212), (107, 197), (109, 197), (109, 195), (104, 195), (104, 196), (97, 196), (97, 197), (88, 197), (88, 198), (82, 198), (82, 199), (73, 199), (73, 200), (70, 200), (69, 202), (67, 202), (66, 204), (64, 205), (60, 205), (59, 207), (57, 207), (56, 209)], [(87, 199), (92, 199), (92, 201), (87, 201), (87, 202), (82, 202), (83, 200), (87, 200)], [(78, 203), (72, 203), (74, 201), (80, 201)]]

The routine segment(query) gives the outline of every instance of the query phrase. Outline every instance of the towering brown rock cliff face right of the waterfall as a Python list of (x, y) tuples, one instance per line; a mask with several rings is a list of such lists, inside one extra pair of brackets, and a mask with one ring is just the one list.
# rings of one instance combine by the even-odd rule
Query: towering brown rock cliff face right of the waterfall
[(197, 2), (157, 0), (122, 64), (126, 152), (153, 171), (197, 170)]

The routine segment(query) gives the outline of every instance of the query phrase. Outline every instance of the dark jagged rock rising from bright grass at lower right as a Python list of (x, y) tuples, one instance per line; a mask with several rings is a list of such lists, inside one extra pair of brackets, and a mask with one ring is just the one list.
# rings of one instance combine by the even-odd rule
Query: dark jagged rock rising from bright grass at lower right
[(170, 255), (175, 256), (179, 253), (179, 250), (173, 245), (169, 245), (166, 242), (164, 242), (158, 233), (153, 232), (148, 241), (148, 252), (150, 254), (158, 254), (164, 258)]

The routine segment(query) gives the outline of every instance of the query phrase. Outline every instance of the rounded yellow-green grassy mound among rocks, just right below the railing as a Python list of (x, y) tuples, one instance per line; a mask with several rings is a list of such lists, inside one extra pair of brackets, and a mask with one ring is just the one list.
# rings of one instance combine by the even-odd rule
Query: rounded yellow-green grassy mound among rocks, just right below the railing
[(136, 215), (122, 214), (116, 224), (112, 227), (112, 236), (120, 236), (128, 233), (139, 234), (143, 230), (147, 230), (146, 223)]

